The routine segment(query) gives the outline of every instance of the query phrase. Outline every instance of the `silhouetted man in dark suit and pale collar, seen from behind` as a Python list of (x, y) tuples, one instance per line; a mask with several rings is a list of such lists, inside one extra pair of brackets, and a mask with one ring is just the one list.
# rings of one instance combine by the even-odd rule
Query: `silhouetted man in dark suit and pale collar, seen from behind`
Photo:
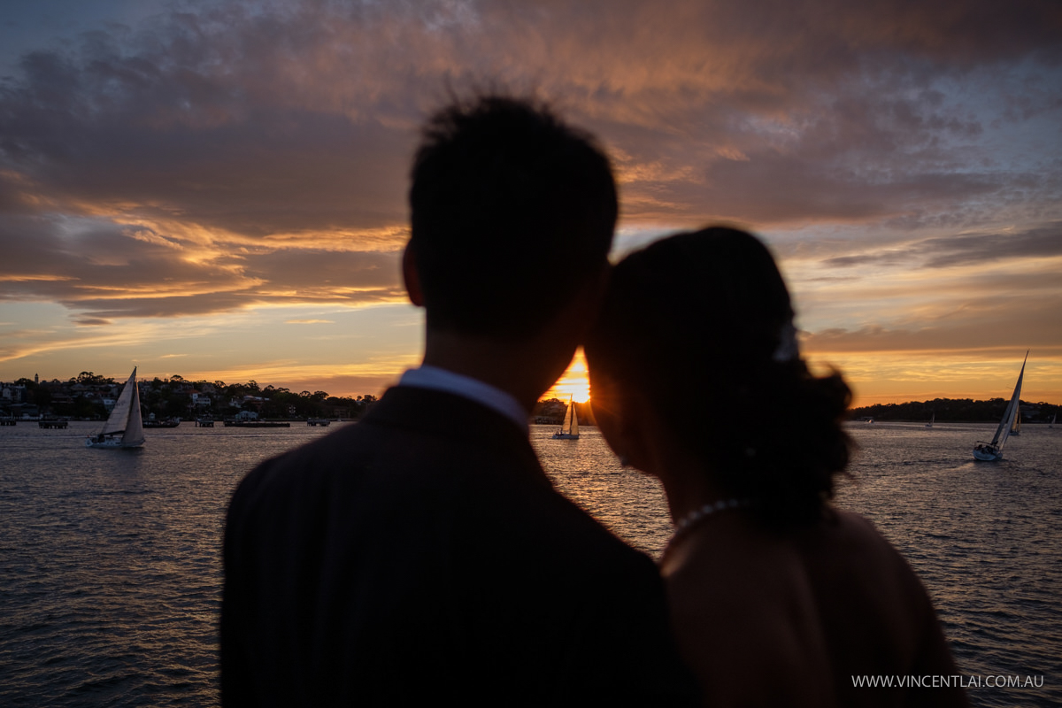
[(606, 277), (607, 158), (533, 102), (457, 102), (424, 128), (410, 206), (423, 365), (239, 485), (223, 704), (695, 704), (655, 566), (528, 441)]

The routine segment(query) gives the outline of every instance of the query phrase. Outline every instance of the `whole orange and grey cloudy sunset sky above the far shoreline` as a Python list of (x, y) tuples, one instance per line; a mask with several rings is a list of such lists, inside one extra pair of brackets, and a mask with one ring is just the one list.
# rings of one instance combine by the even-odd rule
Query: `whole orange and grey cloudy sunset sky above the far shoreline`
[(1058, 0), (5, 2), (0, 380), (378, 395), (418, 362), (407, 174), (448, 86), (600, 137), (616, 256), (763, 236), (857, 404), (1008, 397), (1026, 349), (1062, 403)]

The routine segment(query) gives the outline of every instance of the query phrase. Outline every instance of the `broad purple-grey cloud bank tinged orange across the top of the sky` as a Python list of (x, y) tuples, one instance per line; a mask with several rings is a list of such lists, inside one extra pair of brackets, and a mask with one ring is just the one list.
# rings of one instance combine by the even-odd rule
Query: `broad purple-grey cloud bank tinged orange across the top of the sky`
[[(195, 4), (25, 55), (0, 154), (27, 179), (4, 192), (251, 237), (393, 225), (423, 107), (494, 76), (676, 168), (633, 183), (645, 215), (871, 219), (999, 189), (948, 151), (984, 127), (935, 81), (1057, 68), (1060, 34), (1032, 0)], [(1007, 91), (1012, 120), (1059, 108)]]

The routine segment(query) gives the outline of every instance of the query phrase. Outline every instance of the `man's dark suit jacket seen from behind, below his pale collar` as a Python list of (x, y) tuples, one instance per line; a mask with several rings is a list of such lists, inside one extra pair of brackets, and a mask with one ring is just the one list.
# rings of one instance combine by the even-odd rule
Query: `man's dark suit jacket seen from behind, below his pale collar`
[(224, 562), (225, 706), (697, 700), (652, 562), (460, 396), (392, 388), (259, 466)]

